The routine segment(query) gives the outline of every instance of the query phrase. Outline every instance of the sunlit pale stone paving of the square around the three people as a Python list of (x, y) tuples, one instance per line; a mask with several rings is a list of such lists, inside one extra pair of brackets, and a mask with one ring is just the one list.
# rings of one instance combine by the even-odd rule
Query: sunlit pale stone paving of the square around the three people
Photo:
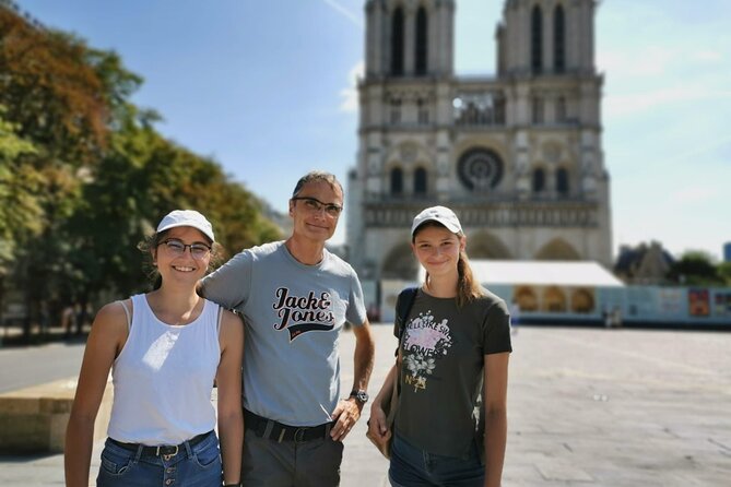
[[(372, 395), (392, 363), (390, 331), (374, 326)], [(351, 333), (341, 347), (347, 389)], [(514, 349), (504, 486), (731, 485), (731, 333), (528, 326)], [(343, 487), (388, 485), (364, 433), (365, 418), (345, 440)], [(62, 485), (62, 463), (0, 456), (0, 485)]]

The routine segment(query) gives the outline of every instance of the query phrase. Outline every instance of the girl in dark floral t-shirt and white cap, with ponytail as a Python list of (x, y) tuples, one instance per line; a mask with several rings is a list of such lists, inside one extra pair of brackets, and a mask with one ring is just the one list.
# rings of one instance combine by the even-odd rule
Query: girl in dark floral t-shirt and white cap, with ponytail
[[(404, 322), (400, 377), (394, 366), (370, 407), (369, 432), (377, 442), (394, 436), (392, 486), (498, 487), (512, 351), (507, 306), (474, 280), (451, 210), (433, 206), (416, 215), (411, 246), (426, 276)], [(397, 380), (401, 394), (390, 431), (381, 402)]]

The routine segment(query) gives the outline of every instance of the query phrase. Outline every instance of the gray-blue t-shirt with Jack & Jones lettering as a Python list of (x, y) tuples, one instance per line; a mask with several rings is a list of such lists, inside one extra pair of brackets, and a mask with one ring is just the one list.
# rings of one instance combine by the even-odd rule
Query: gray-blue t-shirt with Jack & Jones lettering
[(340, 397), (340, 331), (366, 320), (353, 268), (326, 249), (306, 265), (283, 241), (244, 250), (202, 282), (203, 296), (239, 311), (244, 407), (292, 426), (330, 421)]

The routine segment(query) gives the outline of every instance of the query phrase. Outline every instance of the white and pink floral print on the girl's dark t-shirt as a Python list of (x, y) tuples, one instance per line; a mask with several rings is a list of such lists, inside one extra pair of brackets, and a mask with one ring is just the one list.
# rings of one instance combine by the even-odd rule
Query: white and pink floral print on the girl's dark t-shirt
[(436, 321), (432, 310), (420, 313), (405, 329), (403, 338), (404, 381), (414, 392), (426, 389), (427, 376), (437, 366), (437, 359), (447, 355), (452, 345), (448, 320)]

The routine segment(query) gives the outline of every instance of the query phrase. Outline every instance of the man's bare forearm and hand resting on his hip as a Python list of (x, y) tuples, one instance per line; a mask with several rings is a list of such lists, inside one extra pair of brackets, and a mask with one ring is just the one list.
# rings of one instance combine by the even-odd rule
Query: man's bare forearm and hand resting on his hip
[[(353, 389), (367, 390), (375, 354), (375, 344), (370, 334), (370, 324), (366, 319), (361, 326), (353, 326), (355, 334), (355, 353), (353, 354), (354, 373)], [(342, 441), (355, 423), (361, 418), (364, 404), (355, 397), (349, 397), (338, 403), (332, 413), (335, 425), (330, 430), (330, 436), (335, 441)]]

